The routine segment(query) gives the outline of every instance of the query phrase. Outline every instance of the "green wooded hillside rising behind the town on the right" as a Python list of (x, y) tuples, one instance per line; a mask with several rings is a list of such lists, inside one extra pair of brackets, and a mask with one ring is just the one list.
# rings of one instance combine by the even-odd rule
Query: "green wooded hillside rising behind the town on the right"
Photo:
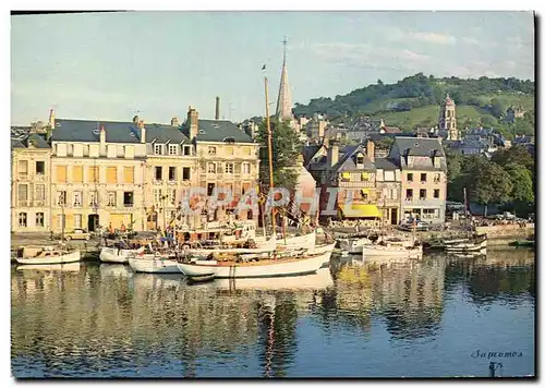
[[(439, 104), (447, 93), (455, 99), (460, 129), (494, 126), (508, 137), (534, 133), (535, 84), (517, 78), (462, 80), (435, 78), (422, 73), (396, 84), (376, 84), (344, 96), (315, 98), (308, 105), (295, 104), (296, 116), (325, 113), (332, 122), (350, 123), (360, 116), (384, 119), (388, 125), (413, 131), (416, 126), (437, 124)], [(506, 122), (506, 110), (522, 107), (528, 113), (514, 123)]]

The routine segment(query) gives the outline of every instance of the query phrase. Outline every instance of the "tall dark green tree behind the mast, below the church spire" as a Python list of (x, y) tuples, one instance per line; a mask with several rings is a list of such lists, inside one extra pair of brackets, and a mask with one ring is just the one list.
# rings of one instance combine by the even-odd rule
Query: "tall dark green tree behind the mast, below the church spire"
[[(298, 157), (302, 151), (302, 144), (293, 129), (286, 122), (270, 119), (272, 133), (272, 178), (275, 187), (295, 189), (299, 171), (290, 169), (296, 166)], [(269, 154), (268, 132), (266, 120), (259, 125), (257, 142), (261, 145), (259, 183), (269, 186)]]

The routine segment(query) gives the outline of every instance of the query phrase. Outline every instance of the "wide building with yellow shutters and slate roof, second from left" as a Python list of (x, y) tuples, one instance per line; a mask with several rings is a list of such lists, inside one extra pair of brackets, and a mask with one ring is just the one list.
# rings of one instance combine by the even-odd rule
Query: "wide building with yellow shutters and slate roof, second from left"
[[(140, 125), (142, 126), (142, 125)], [(145, 130), (132, 122), (51, 122), (51, 228), (143, 230)]]

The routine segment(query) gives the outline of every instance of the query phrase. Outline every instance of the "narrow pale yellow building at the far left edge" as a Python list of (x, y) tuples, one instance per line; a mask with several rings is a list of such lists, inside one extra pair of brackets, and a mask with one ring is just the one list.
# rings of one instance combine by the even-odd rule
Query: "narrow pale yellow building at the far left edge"
[(49, 204), (51, 147), (45, 137), (31, 134), (11, 142), (11, 230), (50, 230)]

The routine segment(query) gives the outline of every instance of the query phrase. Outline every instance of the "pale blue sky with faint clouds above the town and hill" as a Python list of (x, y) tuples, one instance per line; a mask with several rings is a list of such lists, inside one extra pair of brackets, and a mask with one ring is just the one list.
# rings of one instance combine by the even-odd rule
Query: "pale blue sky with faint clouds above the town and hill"
[[(534, 80), (531, 12), (123, 12), (11, 16), (11, 123), (169, 123), (276, 109), (288, 39), (293, 102), (423, 72)], [(266, 64), (266, 71), (262, 71)]]

